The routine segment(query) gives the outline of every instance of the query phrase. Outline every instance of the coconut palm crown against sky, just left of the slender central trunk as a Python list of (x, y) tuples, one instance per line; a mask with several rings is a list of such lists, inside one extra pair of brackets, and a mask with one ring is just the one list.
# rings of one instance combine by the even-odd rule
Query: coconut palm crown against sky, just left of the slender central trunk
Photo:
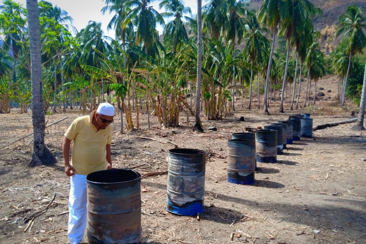
[(192, 15), (191, 8), (185, 7), (182, 0), (164, 0), (159, 4), (159, 8), (165, 8), (161, 13), (163, 18), (172, 18), (164, 27), (164, 44), (168, 45), (173, 53), (176, 52), (177, 46), (181, 44), (181, 40), (188, 40), (187, 30), (183, 24), (183, 20), (191, 22), (191, 18), (185, 16)]

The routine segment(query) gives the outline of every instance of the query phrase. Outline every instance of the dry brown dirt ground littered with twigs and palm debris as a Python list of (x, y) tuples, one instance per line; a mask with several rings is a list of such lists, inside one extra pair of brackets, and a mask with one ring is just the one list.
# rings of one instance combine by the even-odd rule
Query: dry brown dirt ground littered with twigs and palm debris
[[(350, 116), (355, 109), (351, 104), (336, 106), (334, 77), (321, 80), (318, 87), (324, 87), (325, 94), (332, 90), (328, 93), (331, 98), (326, 95), (314, 106), (295, 111), (289, 111), (287, 103), (285, 114), (276, 112), (278, 101), (270, 104), (271, 116), (264, 116), (262, 110), (241, 108), (239, 99), (234, 116), (203, 121), (205, 129), (214, 125), (217, 132), (191, 132), (194, 118), (190, 117), (187, 124), (182, 111), (180, 127), (162, 128), (152, 118), (152, 129), (148, 130), (145, 114), (141, 114), (141, 129), (121, 135), (116, 116), (112, 124), (115, 168), (135, 167), (141, 174), (166, 171), (168, 150), (173, 148), (166, 142), (218, 153), (207, 154), (205, 211), (199, 221), (196, 216), (183, 217), (165, 210), (167, 174), (142, 179), (143, 243), (366, 243), (366, 161), (361, 160), (366, 158), (366, 137), (365, 132), (352, 131), (353, 124), (315, 131), (314, 138), (288, 145), (276, 164), (258, 163), (254, 185), (227, 182), (227, 139), (232, 132), (263, 127), (299, 112), (311, 112), (314, 126)], [(81, 115), (79, 109), (68, 109), (66, 114), (46, 117), (51, 123), (69, 116), (46, 129), (45, 143), (58, 158), (55, 165), (29, 167), (31, 136), (0, 149), (1, 244), (68, 243), (70, 180), (64, 173), (61, 139), (72, 120)], [(246, 121), (240, 122), (240, 116)], [(11, 114), (0, 115), (0, 146), (31, 131), (30, 114), (21, 115), (12, 109)], [(44, 199), (51, 199), (55, 193), (49, 208), (25, 232), (24, 219), (45, 208), (48, 201)], [(86, 237), (83, 243), (87, 243)]]

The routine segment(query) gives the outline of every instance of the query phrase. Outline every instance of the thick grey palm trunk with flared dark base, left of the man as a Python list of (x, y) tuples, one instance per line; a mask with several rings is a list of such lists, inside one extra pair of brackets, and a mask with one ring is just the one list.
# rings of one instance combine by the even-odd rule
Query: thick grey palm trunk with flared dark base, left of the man
[(27, 18), (30, 41), (31, 58), (31, 93), (32, 93), (32, 124), (33, 124), (33, 156), (31, 166), (53, 164), (57, 162), (55, 156), (47, 149), (44, 143), (45, 111), (42, 94), (41, 68), (41, 34), (38, 14), (38, 1), (27, 0)]

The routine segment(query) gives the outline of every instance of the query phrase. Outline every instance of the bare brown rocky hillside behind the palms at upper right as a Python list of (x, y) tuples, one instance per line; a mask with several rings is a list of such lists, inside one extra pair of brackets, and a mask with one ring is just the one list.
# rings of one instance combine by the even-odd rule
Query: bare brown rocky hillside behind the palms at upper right
[[(365, 0), (310, 0), (316, 7), (321, 8), (323, 16), (316, 17), (313, 20), (315, 30), (321, 32), (322, 37), (319, 40), (323, 52), (328, 54), (336, 48), (340, 42), (340, 38), (336, 38), (335, 30), (338, 24), (338, 17), (344, 14), (347, 7), (356, 5), (366, 12)], [(249, 10), (258, 10), (262, 4), (262, 0), (251, 0), (247, 4)]]

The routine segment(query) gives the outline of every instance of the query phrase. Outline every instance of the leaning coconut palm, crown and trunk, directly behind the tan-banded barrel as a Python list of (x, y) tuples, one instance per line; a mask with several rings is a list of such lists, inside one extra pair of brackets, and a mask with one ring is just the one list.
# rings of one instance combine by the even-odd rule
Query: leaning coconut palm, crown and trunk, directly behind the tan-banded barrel
[(269, 85), (269, 77), (272, 65), (272, 56), (273, 51), (275, 49), (275, 42), (277, 37), (277, 32), (279, 25), (283, 23), (289, 16), (288, 6), (286, 1), (282, 0), (264, 0), (258, 12), (258, 20), (263, 25), (268, 27), (272, 32), (272, 47), (268, 60), (267, 67), (267, 75), (266, 75), (266, 83), (265, 83), (265, 93), (264, 93), (264, 113), (265, 115), (269, 115), (267, 108), (267, 99), (268, 99), (268, 85)]

